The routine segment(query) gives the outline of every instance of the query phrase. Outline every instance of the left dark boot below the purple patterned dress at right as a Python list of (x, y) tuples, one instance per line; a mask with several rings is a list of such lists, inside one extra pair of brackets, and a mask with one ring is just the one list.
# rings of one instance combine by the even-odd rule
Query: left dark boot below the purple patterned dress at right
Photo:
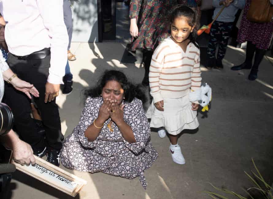
[(241, 69), (251, 69), (252, 68), (252, 59), (254, 56), (256, 45), (253, 44), (251, 41), (248, 41), (247, 47), (246, 47), (246, 57), (244, 63), (242, 63), (239, 66), (233, 66), (231, 67), (231, 70), (241, 70)]

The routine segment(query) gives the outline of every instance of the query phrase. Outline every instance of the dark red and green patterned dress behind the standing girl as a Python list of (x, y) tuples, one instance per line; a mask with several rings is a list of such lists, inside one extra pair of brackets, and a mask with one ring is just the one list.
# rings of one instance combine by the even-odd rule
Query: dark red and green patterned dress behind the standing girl
[(132, 0), (130, 19), (136, 18), (138, 37), (132, 50), (143, 48), (153, 51), (156, 45), (169, 36), (169, 15), (177, 0)]

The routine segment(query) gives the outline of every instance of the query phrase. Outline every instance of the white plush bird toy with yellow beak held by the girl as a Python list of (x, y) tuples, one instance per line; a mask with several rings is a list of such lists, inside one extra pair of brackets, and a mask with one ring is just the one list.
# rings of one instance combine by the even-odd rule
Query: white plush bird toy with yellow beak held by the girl
[(202, 83), (201, 88), (196, 91), (192, 91), (189, 94), (190, 102), (198, 101), (198, 103), (203, 107), (202, 112), (209, 110), (209, 103), (212, 99), (212, 90), (207, 83)]

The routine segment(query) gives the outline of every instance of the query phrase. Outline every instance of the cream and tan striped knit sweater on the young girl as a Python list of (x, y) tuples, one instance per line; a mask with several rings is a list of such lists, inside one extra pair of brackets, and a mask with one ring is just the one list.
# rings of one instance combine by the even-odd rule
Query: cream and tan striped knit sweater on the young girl
[(152, 55), (149, 82), (154, 103), (180, 98), (201, 86), (200, 51), (189, 43), (186, 53), (170, 37)]

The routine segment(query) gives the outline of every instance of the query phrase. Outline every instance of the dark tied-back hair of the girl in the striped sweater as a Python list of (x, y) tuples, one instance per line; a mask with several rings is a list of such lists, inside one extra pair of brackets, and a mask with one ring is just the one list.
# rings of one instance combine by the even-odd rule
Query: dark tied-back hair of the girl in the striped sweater
[(172, 9), (170, 15), (170, 22), (173, 23), (177, 17), (185, 17), (187, 19), (189, 26), (191, 27), (194, 26), (193, 31), (190, 33), (189, 39), (192, 43), (194, 43), (196, 47), (198, 47), (198, 44), (196, 43), (197, 31), (200, 27), (198, 10), (196, 8), (182, 4), (176, 5)]

